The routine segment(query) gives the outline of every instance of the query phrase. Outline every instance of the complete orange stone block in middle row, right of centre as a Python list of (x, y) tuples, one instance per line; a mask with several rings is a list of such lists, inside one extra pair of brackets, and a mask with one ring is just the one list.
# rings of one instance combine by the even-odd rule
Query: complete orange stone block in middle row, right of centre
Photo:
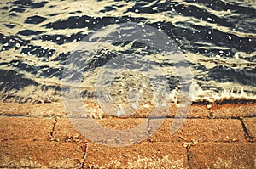
[[(160, 120), (150, 120), (150, 127)], [(186, 119), (177, 132), (171, 134), (173, 119), (166, 119), (163, 125), (152, 134), (153, 142), (227, 142), (245, 141), (241, 121), (233, 119)], [(155, 130), (153, 130), (155, 131)]]

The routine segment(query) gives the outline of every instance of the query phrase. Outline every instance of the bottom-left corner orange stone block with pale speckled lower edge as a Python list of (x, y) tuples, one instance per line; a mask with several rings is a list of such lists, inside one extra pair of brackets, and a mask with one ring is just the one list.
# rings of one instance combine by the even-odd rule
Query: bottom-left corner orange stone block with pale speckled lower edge
[(78, 144), (47, 141), (0, 142), (3, 168), (78, 168), (82, 151)]

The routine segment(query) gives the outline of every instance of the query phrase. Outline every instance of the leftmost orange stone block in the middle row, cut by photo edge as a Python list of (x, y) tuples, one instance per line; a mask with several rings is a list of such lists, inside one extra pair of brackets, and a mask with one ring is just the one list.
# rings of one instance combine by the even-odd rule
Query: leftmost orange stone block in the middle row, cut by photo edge
[(53, 118), (1, 116), (0, 140), (48, 140), (54, 122)]

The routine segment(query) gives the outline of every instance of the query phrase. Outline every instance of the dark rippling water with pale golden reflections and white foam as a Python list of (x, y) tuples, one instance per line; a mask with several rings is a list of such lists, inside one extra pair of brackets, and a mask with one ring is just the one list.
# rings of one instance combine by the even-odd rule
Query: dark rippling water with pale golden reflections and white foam
[[(194, 79), (195, 103), (256, 100), (254, 1), (18, 0), (1, 2), (0, 11), (0, 99), (3, 102), (60, 101), (63, 70), (65, 66), (73, 68), (67, 60), (74, 49), (102, 27), (126, 22), (154, 27), (176, 42)], [(107, 37), (109, 35), (107, 33)], [(136, 42), (112, 42), (85, 58), (77, 57), (81, 63), (90, 59), (90, 66), (85, 66), (81, 76), (80, 94), (84, 98), (94, 97), (93, 86), (101, 67), (122, 54), (140, 54), (142, 60), (161, 67), (170, 93), (178, 95), (175, 67), (161, 59), (160, 51)], [(135, 58), (130, 59), (130, 65), (139, 63)], [(83, 67), (78, 66), (78, 69)], [(117, 79), (127, 75), (122, 74)], [(136, 73), (131, 76), (135, 82), (148, 84)], [(120, 91), (119, 83), (120, 80), (111, 89), (118, 99), (119, 93), (114, 91)], [(150, 97), (152, 93), (147, 88), (144, 85), (143, 93)]]

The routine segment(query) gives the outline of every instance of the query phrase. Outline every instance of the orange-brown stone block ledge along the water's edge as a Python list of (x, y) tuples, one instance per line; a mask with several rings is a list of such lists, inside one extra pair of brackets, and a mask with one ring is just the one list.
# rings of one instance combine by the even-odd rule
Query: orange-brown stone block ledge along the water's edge
[[(176, 110), (172, 106), (143, 142), (116, 148), (81, 136), (61, 103), (1, 103), (0, 168), (256, 168), (256, 104), (193, 105), (183, 126), (170, 134)], [(146, 117), (142, 110), (97, 121), (125, 129)], [(147, 122), (150, 128), (158, 119)]]

